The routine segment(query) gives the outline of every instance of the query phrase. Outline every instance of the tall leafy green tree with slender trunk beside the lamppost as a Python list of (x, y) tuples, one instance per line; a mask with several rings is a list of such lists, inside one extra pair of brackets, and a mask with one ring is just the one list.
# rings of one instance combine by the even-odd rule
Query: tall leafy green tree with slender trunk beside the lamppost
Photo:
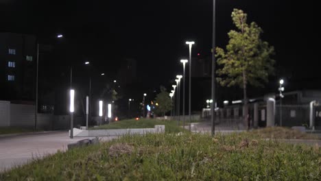
[(239, 86), (243, 88), (243, 104), (248, 113), (248, 98), (246, 88), (263, 86), (268, 82), (268, 76), (274, 72), (274, 47), (261, 40), (263, 33), (257, 23), (248, 25), (247, 14), (242, 10), (232, 12), (233, 24), (237, 30), (228, 33), (229, 42), (224, 49), (216, 48), (217, 82), (222, 86)]

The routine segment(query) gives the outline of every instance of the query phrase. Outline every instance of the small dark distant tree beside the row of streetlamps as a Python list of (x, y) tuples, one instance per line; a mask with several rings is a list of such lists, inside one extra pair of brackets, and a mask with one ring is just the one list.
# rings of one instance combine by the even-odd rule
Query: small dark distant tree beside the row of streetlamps
[(166, 92), (165, 87), (160, 86), (160, 93), (156, 95), (155, 104), (156, 114), (162, 114), (163, 116), (173, 108), (171, 97), (169, 97), (169, 93)]

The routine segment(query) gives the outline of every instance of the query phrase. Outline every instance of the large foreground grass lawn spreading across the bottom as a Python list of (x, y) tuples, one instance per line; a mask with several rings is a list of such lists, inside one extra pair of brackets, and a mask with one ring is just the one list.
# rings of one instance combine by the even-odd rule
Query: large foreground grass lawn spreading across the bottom
[(58, 152), (0, 180), (320, 180), (321, 148), (251, 132), (146, 134)]

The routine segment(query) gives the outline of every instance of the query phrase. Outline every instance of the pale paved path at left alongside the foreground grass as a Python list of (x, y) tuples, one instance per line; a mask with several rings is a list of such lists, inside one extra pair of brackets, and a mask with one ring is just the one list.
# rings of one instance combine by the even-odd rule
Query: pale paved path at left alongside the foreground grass
[[(23, 165), (33, 157), (54, 154), (58, 150), (67, 150), (69, 143), (75, 143), (88, 137), (69, 138), (68, 132), (51, 132), (0, 138), (0, 171), (14, 165)], [(104, 137), (108, 141), (115, 136)]]

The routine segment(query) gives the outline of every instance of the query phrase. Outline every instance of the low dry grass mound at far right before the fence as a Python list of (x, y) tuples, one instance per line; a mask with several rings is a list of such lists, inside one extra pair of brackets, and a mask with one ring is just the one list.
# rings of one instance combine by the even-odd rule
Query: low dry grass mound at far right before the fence
[(270, 127), (259, 130), (253, 130), (252, 134), (260, 138), (278, 138), (278, 139), (318, 139), (318, 136), (307, 134), (284, 127)]

